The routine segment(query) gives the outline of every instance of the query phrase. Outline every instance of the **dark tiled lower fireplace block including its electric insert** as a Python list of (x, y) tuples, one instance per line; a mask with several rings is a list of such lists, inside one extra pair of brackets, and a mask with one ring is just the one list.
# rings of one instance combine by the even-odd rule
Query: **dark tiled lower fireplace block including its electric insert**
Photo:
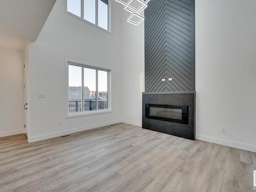
[(142, 128), (195, 140), (195, 94), (143, 93)]

